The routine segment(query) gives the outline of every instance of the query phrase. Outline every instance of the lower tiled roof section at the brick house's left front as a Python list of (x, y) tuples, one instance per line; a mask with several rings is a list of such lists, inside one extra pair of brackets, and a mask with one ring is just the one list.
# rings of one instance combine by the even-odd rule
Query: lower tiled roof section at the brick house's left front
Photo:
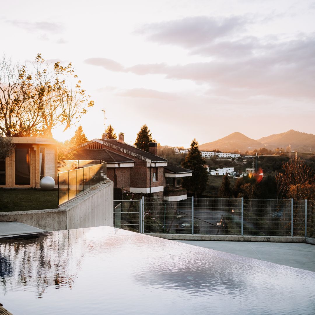
[(123, 155), (110, 152), (107, 149), (77, 149), (73, 154), (75, 160), (101, 160), (108, 163), (115, 162), (134, 162), (134, 160)]

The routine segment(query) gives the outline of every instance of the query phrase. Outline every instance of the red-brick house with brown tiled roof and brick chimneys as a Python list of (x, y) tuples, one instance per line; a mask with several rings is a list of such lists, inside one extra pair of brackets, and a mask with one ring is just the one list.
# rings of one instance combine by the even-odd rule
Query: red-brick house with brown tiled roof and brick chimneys
[[(161, 197), (164, 194), (164, 167), (168, 163), (157, 156), (155, 142), (149, 144), (149, 152), (146, 152), (125, 143), (123, 133), (119, 133), (118, 140), (107, 139), (106, 134), (103, 134), (102, 139), (93, 139), (77, 146), (73, 158), (107, 162), (107, 177), (114, 182), (114, 187)], [(178, 167), (177, 171), (179, 169), (183, 170)], [(190, 170), (185, 171), (185, 176), (191, 176)], [(186, 192), (185, 196), (182, 195), (186, 198)]]

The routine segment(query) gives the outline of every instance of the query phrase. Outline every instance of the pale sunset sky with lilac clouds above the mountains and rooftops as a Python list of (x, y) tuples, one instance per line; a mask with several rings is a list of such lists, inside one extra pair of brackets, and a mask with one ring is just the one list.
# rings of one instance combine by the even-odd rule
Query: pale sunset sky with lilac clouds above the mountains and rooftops
[(315, 133), (314, 16), (308, 0), (12, 0), (1, 48), (21, 63), (72, 62), (95, 101), (80, 122), (89, 139), (105, 109), (127, 143), (146, 123), (162, 145), (188, 147), (235, 131)]

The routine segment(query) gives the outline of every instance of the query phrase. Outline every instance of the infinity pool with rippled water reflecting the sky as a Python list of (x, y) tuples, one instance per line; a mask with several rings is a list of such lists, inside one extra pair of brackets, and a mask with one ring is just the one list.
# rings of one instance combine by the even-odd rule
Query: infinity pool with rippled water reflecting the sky
[(315, 314), (315, 272), (112, 227), (0, 240), (20, 314)]

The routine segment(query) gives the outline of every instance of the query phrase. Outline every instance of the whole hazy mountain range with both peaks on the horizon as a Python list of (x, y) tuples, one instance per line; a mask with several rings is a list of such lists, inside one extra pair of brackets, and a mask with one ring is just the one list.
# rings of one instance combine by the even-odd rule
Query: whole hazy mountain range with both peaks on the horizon
[(284, 150), (291, 145), (291, 150), (298, 152), (315, 152), (315, 135), (306, 134), (295, 130), (270, 135), (258, 140), (250, 139), (249, 137), (234, 132), (222, 139), (201, 144), (199, 149), (201, 151), (213, 151), (218, 149), (223, 152), (246, 152), (255, 149), (266, 148), (268, 150), (275, 150), (276, 148), (283, 148)]

